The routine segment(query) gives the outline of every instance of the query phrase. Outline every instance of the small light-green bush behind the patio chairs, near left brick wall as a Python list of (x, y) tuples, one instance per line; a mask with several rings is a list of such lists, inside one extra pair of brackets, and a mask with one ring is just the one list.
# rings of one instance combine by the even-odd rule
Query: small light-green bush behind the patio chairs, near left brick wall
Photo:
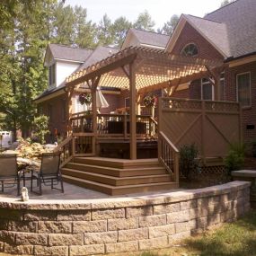
[[(49, 134), (49, 117), (45, 115), (41, 115), (34, 119), (33, 121), (34, 127), (34, 137), (38, 139), (41, 144), (45, 143), (45, 136)], [(34, 138), (35, 140), (35, 138)]]

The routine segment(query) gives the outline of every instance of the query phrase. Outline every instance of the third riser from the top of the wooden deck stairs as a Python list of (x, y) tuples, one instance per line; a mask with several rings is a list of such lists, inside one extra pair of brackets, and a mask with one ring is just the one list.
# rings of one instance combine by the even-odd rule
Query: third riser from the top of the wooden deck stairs
[(72, 172), (70, 170), (63, 170), (63, 174), (84, 179), (84, 180), (89, 180), (89, 181), (95, 181), (107, 185), (112, 185), (112, 186), (127, 186), (127, 185), (137, 185), (137, 184), (148, 184), (148, 183), (157, 183), (157, 182), (168, 182), (171, 181), (171, 176), (169, 175), (164, 175), (163, 177), (145, 177), (145, 178), (139, 178), (137, 179), (125, 179), (122, 181), (115, 180), (115, 178), (106, 178), (106, 177), (97, 177), (94, 176), (93, 174), (89, 173), (81, 173), (81, 172)]

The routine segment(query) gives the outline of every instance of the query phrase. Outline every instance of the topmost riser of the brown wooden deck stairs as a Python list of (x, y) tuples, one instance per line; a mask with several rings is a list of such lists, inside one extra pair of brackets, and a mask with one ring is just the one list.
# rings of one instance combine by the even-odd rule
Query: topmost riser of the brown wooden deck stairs
[(103, 167), (111, 167), (111, 168), (141, 168), (141, 167), (156, 167), (159, 166), (159, 163), (157, 161), (148, 161), (146, 162), (127, 162), (127, 163), (120, 163), (120, 162), (111, 162), (111, 161), (102, 161), (102, 160), (93, 160), (89, 158), (75, 158), (74, 160), (75, 163), (84, 163), (84, 164), (90, 164), (90, 165), (97, 165), (97, 166), (103, 166)]

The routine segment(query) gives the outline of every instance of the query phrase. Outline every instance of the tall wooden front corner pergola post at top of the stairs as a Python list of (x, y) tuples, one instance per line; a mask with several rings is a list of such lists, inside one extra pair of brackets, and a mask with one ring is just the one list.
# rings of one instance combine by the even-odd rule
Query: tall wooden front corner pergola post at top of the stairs
[(129, 64), (129, 141), (130, 159), (137, 159), (137, 138), (136, 138), (136, 69), (135, 63)]

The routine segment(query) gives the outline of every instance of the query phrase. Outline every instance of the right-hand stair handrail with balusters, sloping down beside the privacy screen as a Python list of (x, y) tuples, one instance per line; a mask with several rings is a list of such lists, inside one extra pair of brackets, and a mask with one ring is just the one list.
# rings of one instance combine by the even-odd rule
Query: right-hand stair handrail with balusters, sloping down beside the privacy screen
[(179, 182), (179, 156), (178, 148), (163, 133), (158, 133), (158, 160), (163, 164), (167, 172), (174, 176), (174, 181)]

